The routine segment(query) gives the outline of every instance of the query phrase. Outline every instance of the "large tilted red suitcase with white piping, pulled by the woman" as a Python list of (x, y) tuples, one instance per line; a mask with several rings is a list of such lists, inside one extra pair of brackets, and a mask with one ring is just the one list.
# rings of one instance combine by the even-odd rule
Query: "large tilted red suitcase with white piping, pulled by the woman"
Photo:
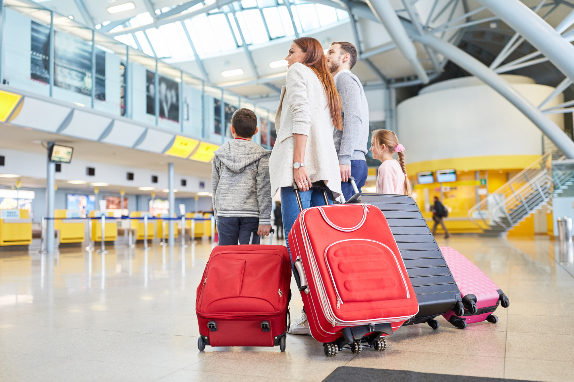
[(405, 265), (377, 207), (305, 209), (289, 232), (289, 247), (309, 329), (325, 355), (344, 348), (358, 353), (364, 343), (384, 350), (384, 337), (417, 314)]

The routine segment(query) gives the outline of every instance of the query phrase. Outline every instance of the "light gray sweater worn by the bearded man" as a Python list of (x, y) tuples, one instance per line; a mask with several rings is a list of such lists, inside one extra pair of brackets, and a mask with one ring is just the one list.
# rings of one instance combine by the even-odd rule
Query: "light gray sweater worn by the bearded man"
[(335, 86), (343, 106), (343, 131), (333, 132), (335, 148), (341, 165), (351, 165), (353, 159), (364, 159), (369, 140), (369, 104), (363, 85), (350, 71), (335, 76)]

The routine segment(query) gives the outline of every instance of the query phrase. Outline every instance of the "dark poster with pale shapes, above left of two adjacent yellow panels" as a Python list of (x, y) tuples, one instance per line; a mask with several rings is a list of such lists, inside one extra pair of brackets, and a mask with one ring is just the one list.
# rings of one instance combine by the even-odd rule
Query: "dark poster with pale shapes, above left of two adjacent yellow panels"
[[(160, 98), (160, 118), (179, 122), (179, 84), (176, 81), (161, 75), (158, 79), (158, 83), (159, 86), (157, 94)], [(156, 115), (156, 104), (154, 102), (155, 89), (155, 73), (152, 71), (146, 71), (146, 110), (148, 114), (152, 115)]]

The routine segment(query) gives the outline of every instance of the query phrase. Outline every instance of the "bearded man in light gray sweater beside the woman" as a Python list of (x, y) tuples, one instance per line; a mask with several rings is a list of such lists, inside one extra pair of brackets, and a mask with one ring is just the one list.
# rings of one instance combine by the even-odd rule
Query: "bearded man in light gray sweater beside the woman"
[(339, 155), (341, 188), (347, 200), (355, 193), (347, 182), (350, 176), (355, 178), (359, 192), (367, 181), (367, 162), (364, 155), (368, 152), (369, 104), (363, 85), (358, 77), (351, 73), (357, 61), (355, 46), (350, 42), (333, 42), (325, 57), (343, 106), (343, 131), (335, 129), (333, 140)]

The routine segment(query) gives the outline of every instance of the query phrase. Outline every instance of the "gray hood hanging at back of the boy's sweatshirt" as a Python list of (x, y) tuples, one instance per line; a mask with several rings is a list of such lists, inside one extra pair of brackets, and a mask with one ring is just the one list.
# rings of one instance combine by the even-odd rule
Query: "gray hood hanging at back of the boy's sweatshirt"
[(263, 149), (255, 142), (246, 141), (246, 139), (227, 141), (214, 152), (215, 156), (235, 173), (241, 173), (245, 167), (270, 153), (271, 151)]

